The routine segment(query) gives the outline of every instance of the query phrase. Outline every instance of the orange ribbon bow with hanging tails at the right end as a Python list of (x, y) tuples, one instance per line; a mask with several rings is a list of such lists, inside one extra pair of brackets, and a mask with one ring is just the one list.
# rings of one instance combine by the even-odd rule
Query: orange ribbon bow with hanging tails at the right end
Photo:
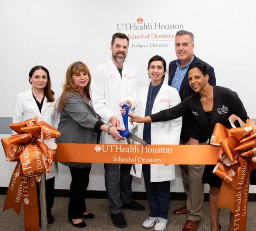
[[(256, 122), (246, 124), (235, 115), (229, 117), (233, 128), (216, 123), (210, 143), (220, 145), (218, 164), (213, 173), (223, 182), (217, 207), (234, 213), (234, 230), (246, 230), (247, 204), (251, 170), (256, 168)], [(241, 128), (236, 128), (238, 121)]]

